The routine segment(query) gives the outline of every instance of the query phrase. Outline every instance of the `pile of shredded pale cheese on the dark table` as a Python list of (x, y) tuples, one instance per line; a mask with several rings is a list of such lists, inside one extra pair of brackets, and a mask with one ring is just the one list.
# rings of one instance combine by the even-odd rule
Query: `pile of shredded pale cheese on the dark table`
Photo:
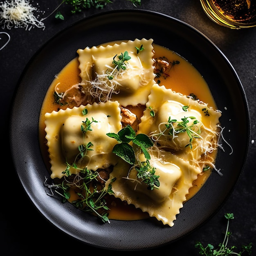
[(30, 30), (38, 27), (45, 29), (43, 22), (38, 20), (34, 13), (38, 9), (33, 7), (29, 0), (11, 0), (0, 3), (0, 24), (2, 29), (24, 28)]

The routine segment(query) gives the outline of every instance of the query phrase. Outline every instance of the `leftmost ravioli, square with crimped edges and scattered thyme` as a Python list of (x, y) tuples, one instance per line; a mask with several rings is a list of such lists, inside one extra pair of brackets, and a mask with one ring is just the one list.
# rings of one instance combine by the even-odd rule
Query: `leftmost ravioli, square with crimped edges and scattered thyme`
[[(83, 110), (88, 113), (83, 115)], [(45, 114), (45, 131), (51, 177), (63, 177), (67, 164), (72, 164), (79, 154), (79, 146), (92, 143), (86, 156), (77, 162), (79, 168), (96, 171), (98, 168), (108, 168), (117, 163), (117, 156), (112, 153), (116, 142), (106, 135), (107, 132), (118, 132), (121, 129), (119, 103), (93, 103), (92, 105), (74, 107), (72, 109), (53, 111)], [(90, 121), (90, 129), (85, 134), (81, 130), (83, 122)], [(93, 121), (94, 120), (94, 121)], [(71, 174), (77, 174), (79, 169), (70, 168)]]

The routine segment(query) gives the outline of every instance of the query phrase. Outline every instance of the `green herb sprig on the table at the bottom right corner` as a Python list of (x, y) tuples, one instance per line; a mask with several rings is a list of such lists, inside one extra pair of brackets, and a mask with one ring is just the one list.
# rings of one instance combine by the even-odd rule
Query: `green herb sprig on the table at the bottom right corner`
[(229, 237), (231, 236), (231, 232), (229, 231), (229, 220), (234, 219), (233, 213), (225, 213), (225, 218), (227, 219), (227, 229), (225, 232), (225, 237), (222, 243), (218, 245), (217, 249), (214, 249), (214, 246), (210, 243), (207, 244), (206, 247), (202, 245), (201, 242), (197, 242), (195, 244), (195, 248), (199, 250), (200, 255), (205, 256), (229, 256), (229, 255), (237, 255), (241, 256), (244, 252), (247, 252), (247, 254), (252, 254), (252, 243), (249, 243), (249, 245), (242, 245), (242, 250), (239, 253), (234, 252), (234, 249), (236, 249), (236, 246), (231, 246), (230, 248), (227, 247)]

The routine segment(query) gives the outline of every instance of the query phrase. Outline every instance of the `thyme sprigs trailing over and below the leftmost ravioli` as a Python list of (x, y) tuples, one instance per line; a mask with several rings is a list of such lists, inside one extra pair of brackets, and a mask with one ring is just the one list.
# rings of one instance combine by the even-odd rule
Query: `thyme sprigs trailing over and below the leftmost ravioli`
[[(86, 108), (82, 111), (83, 115), (88, 114), (88, 110)], [(97, 121), (92, 117), (92, 121), (88, 118), (85, 121), (82, 121), (81, 124), (81, 132), (83, 133), (83, 138), (88, 131), (92, 131), (92, 123), (97, 123)], [(70, 189), (72, 188), (76, 193), (77, 200), (72, 201), (75, 207), (90, 213), (96, 214), (103, 222), (108, 222), (108, 213), (106, 210), (109, 208), (106, 205), (106, 200), (104, 196), (108, 193), (113, 193), (111, 184), (108, 186), (108, 189), (102, 188), (98, 184), (98, 179), (101, 179), (99, 173), (97, 171), (93, 172), (88, 170), (87, 167), (79, 168), (77, 165), (77, 159), (83, 159), (86, 156), (88, 150), (93, 150), (92, 142), (84, 143), (78, 146), (79, 153), (76, 155), (74, 162), (69, 164), (66, 162), (66, 169), (62, 173), (67, 177), (61, 183), (56, 185), (63, 196), (63, 202), (70, 199)], [(74, 168), (77, 171), (77, 175), (70, 173), (70, 168)], [(115, 181), (115, 178), (111, 180), (110, 183)], [(83, 191), (83, 192), (81, 192)]]

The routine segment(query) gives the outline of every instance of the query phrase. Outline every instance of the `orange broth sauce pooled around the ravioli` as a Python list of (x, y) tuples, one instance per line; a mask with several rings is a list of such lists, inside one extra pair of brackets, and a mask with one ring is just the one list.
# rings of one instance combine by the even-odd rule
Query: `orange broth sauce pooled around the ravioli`
[[(180, 61), (179, 64), (176, 64), (171, 68), (168, 77), (160, 77), (159, 79), (155, 79), (155, 81), (160, 81), (159, 85), (164, 85), (166, 88), (171, 88), (173, 91), (180, 92), (184, 95), (193, 93), (198, 97), (198, 99), (200, 99), (200, 101), (208, 103), (209, 107), (217, 109), (206, 81), (195, 69), (195, 67), (191, 65), (191, 63), (177, 55), (175, 52), (172, 52), (164, 47), (155, 44), (153, 44), (153, 46), (155, 52), (154, 58), (164, 56), (170, 63), (173, 61)], [(72, 87), (72, 85), (79, 83), (81, 80), (79, 73), (79, 61), (78, 58), (74, 58), (53, 80), (43, 101), (39, 118), (39, 143), (42, 156), (49, 173), (51, 173), (51, 166), (49, 164), (49, 156), (45, 139), (45, 113), (50, 113), (54, 110), (58, 111), (60, 108), (67, 108), (67, 106), (60, 106), (59, 104), (55, 103), (53, 96), (55, 88), (58, 86), (58, 88), (60, 88), (63, 92)], [(139, 108), (127, 106), (127, 108), (129, 108), (135, 115), (137, 115), (138, 119), (140, 119), (145, 106), (141, 106)], [(193, 182), (193, 186), (189, 189), (189, 194), (186, 195), (186, 200), (191, 199), (200, 190), (210, 174), (211, 171), (205, 171), (198, 175), (198, 179)], [(71, 198), (69, 201), (72, 202), (72, 200), (75, 199), (75, 193), (71, 193)], [(120, 199), (115, 198), (113, 195), (108, 198), (107, 202), (108, 207), (110, 208), (108, 216), (109, 219), (139, 220), (148, 218), (148, 213), (143, 213), (140, 209), (136, 209), (133, 205), (128, 205), (126, 202), (121, 202)]]

